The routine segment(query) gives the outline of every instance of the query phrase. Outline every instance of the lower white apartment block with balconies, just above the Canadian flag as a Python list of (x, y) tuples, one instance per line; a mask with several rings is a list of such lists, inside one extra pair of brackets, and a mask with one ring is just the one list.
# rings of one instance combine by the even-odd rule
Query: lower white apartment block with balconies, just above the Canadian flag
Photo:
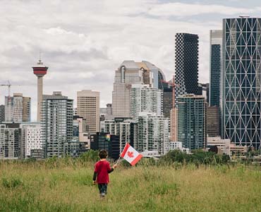
[(140, 112), (134, 147), (139, 152), (166, 154), (169, 151), (169, 119), (155, 113)]

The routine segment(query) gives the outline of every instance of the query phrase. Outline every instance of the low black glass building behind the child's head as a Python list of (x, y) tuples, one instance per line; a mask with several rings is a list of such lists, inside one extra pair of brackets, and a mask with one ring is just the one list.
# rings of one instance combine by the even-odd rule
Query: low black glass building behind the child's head
[(108, 151), (109, 158), (117, 160), (120, 155), (119, 136), (97, 133), (90, 137), (90, 148), (96, 151), (105, 149)]

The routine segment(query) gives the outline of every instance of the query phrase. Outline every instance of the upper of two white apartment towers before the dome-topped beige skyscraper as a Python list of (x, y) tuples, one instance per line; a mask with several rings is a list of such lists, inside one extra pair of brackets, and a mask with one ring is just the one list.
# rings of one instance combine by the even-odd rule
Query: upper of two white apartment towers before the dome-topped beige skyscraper
[(162, 115), (162, 90), (133, 84), (130, 88), (130, 117), (138, 117), (139, 112)]

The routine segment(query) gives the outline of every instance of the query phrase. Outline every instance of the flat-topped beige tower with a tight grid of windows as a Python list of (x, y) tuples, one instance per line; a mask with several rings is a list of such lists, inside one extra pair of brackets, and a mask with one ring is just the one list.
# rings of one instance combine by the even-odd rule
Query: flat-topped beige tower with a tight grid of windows
[(77, 92), (77, 114), (86, 119), (87, 132), (99, 132), (99, 92), (81, 90)]

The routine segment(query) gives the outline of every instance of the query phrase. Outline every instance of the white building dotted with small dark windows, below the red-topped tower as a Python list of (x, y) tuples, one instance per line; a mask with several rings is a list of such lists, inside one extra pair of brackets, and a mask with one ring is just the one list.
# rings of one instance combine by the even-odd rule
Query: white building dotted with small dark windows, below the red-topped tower
[(41, 139), (41, 123), (28, 122), (20, 124), (21, 142), (23, 143), (23, 158), (31, 158), (32, 150), (43, 150)]

